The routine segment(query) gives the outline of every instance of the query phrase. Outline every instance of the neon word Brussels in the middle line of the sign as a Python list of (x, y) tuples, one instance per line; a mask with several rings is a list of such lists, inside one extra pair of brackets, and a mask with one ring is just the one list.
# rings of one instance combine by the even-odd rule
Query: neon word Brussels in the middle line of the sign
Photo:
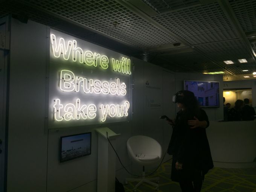
[(116, 80), (112, 82), (100, 81), (99, 79), (87, 79), (75, 76), (70, 70), (61, 70), (59, 87), (62, 91), (79, 92), (82, 87), (84, 93), (126, 95), (126, 85), (124, 82), (120, 84), (119, 78), (116, 78)]

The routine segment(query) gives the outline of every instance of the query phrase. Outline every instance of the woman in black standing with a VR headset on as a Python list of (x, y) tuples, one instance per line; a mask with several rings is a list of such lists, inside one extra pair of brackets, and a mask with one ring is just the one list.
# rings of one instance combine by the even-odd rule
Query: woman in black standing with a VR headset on
[(173, 102), (181, 110), (172, 123), (168, 147), (168, 154), (172, 155), (171, 179), (180, 183), (182, 192), (200, 192), (204, 175), (213, 168), (205, 130), (209, 120), (191, 91), (177, 92)]

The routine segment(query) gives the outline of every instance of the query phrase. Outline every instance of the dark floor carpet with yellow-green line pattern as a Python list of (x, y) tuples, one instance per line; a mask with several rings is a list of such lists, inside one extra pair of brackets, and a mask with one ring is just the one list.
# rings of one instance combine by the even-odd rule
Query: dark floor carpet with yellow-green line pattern
[[(163, 163), (151, 177), (160, 177), (159, 192), (181, 192), (177, 182), (170, 179), (171, 162)], [(137, 182), (124, 185), (126, 192), (133, 192)], [(153, 192), (154, 187), (143, 183), (137, 192)], [(206, 176), (201, 192), (256, 192), (256, 168), (213, 168)]]

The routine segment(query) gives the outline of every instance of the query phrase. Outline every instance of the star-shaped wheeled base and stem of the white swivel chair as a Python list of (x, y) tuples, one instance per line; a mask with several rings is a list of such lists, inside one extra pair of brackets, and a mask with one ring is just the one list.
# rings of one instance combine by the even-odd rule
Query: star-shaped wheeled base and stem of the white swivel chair
[[(133, 191), (136, 192), (137, 191), (137, 187), (139, 187), (142, 183), (148, 183), (151, 184), (152, 186), (155, 187), (155, 190), (158, 191), (159, 188), (159, 177), (151, 177), (151, 178), (145, 178), (145, 167), (143, 166), (143, 172), (142, 172), (142, 178), (129, 178), (129, 179), (125, 179), (125, 184), (128, 184), (128, 181), (130, 182), (134, 182), (134, 181), (139, 181), (138, 184), (136, 184), (136, 186), (134, 187)], [(154, 183), (152, 181), (157, 181), (157, 183)]]

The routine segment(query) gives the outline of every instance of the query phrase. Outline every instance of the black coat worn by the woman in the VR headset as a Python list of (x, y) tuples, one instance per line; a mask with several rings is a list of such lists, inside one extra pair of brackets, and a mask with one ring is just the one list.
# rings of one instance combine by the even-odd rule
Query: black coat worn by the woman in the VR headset
[[(187, 124), (188, 120), (194, 120), (194, 116), (200, 121), (206, 120), (209, 126), (207, 114), (202, 109), (198, 114), (188, 114), (182, 110), (177, 113), (168, 147), (168, 154), (172, 155), (172, 181), (193, 181), (195, 169), (201, 171), (204, 178), (209, 169), (213, 168), (206, 129), (191, 129)], [(175, 169), (176, 162), (183, 163), (182, 170)]]

